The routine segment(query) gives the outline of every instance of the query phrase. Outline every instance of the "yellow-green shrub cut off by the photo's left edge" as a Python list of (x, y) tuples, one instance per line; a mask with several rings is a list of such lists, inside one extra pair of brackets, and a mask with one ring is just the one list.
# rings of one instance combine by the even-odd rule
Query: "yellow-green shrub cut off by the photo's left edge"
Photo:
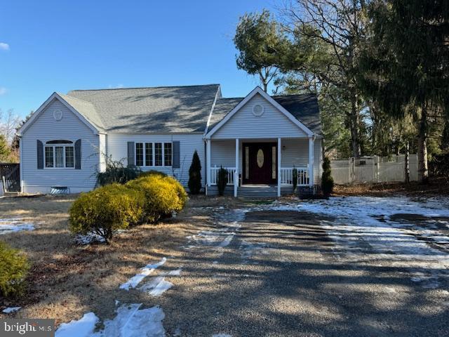
[(0, 293), (4, 297), (23, 295), (28, 270), (25, 253), (0, 242)]

